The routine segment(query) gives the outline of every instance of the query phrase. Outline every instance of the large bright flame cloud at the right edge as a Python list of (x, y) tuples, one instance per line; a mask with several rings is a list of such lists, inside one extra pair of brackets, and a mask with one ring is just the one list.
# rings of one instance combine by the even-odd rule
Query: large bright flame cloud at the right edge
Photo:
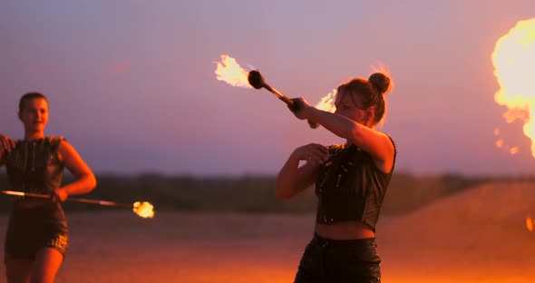
[[(535, 18), (520, 21), (508, 34), (501, 36), (491, 58), (494, 75), (500, 84), (494, 101), (507, 107), (508, 111), (503, 114), (505, 122), (520, 120), (524, 123), (523, 132), (531, 140), (531, 155), (535, 157), (535, 124), (532, 120), (535, 115), (535, 83), (532, 83)], [(500, 144), (503, 146), (503, 142)], [(516, 154), (518, 148), (512, 147), (509, 151)]]

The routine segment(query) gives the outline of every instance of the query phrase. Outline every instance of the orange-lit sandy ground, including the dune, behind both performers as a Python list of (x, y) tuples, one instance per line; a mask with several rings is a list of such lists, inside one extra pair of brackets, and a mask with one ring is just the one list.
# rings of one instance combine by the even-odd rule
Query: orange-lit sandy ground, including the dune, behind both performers
[[(535, 216), (533, 185), (501, 183), (383, 218), (377, 229), (383, 282), (535, 282), (535, 232), (525, 224), (530, 213)], [(56, 282), (292, 282), (314, 225), (313, 215), (67, 217), (70, 249)]]

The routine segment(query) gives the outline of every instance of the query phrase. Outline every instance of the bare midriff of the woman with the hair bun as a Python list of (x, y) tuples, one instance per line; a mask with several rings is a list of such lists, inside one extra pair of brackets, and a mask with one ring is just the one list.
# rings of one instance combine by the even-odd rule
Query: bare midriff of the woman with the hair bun
[(360, 221), (342, 221), (332, 224), (316, 224), (317, 235), (326, 239), (365, 239), (374, 238), (375, 232)]

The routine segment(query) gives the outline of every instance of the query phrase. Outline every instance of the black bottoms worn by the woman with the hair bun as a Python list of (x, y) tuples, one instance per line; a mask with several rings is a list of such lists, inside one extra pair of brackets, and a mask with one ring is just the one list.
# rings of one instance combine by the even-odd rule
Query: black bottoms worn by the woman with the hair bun
[(335, 240), (318, 235), (306, 246), (295, 283), (378, 283), (375, 238)]

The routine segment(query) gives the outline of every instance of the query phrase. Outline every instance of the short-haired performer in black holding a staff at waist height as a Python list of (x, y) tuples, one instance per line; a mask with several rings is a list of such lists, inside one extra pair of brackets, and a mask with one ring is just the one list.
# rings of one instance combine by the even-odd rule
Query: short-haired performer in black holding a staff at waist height
[[(0, 134), (0, 165), (6, 167), (12, 190), (45, 193), (51, 198), (14, 199), (5, 236), (7, 282), (53, 282), (68, 241), (60, 203), (70, 195), (93, 190), (96, 180), (69, 142), (44, 136), (48, 101), (43, 94), (24, 94), (18, 117), (24, 124), (24, 139), (15, 142)], [(75, 181), (62, 187), (65, 167)]]

